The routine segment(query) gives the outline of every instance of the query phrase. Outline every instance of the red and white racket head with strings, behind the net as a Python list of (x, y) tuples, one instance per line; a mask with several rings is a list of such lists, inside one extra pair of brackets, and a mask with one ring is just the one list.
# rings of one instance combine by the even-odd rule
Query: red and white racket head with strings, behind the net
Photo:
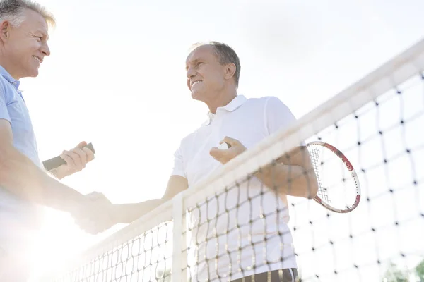
[(332, 212), (352, 212), (360, 202), (360, 183), (351, 162), (326, 142), (310, 142), (307, 149), (318, 180), (314, 200)]

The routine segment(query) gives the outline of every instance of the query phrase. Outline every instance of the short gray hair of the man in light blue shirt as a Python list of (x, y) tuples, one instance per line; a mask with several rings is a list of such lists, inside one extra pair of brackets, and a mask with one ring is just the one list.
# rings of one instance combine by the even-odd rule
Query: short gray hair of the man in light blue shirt
[(56, 25), (56, 20), (52, 13), (45, 7), (31, 0), (0, 0), (0, 23), (7, 20), (13, 27), (19, 27), (25, 20), (25, 9), (33, 10), (45, 18), (51, 27)]

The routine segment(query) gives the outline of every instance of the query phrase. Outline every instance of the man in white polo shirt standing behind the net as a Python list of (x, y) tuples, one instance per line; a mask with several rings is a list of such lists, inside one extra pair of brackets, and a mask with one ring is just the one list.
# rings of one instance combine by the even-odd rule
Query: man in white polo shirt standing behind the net
[[(192, 98), (208, 106), (207, 121), (181, 141), (162, 198), (110, 206), (101, 226), (131, 223), (201, 183), (216, 168), (295, 121), (277, 97), (237, 94), (240, 60), (227, 44), (195, 44), (186, 59)], [(312, 199), (317, 178), (304, 145), (242, 183), (197, 203), (190, 212), (191, 281), (292, 282), (297, 278), (287, 195)], [(111, 215), (105, 218), (105, 215)], [(109, 223), (107, 223), (109, 221)]]

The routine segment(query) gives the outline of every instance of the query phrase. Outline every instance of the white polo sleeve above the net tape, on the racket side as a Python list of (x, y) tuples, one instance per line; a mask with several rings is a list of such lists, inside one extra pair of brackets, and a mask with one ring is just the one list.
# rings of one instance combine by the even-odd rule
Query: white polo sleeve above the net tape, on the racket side
[(277, 97), (269, 97), (265, 102), (265, 122), (269, 135), (288, 128), (296, 121), (293, 113)]

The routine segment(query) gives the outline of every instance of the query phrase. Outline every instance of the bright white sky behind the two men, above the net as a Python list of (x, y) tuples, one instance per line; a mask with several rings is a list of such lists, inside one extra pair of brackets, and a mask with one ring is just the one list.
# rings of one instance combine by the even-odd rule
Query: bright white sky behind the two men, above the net
[[(418, 0), (39, 2), (57, 18), (52, 56), (20, 88), (40, 158), (93, 142), (95, 161), (64, 183), (114, 203), (161, 197), (179, 141), (206, 118), (185, 84), (191, 44), (230, 44), (239, 94), (279, 97), (300, 117), (424, 36)], [(50, 212), (45, 257), (116, 228), (90, 236)]]

